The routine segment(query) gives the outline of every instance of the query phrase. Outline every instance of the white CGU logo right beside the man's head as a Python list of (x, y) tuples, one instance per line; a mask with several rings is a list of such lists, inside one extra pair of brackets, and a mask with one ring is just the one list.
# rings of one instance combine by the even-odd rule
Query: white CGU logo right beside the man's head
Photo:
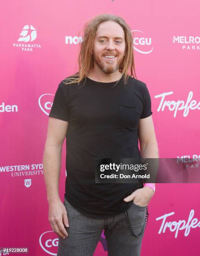
[(152, 46), (152, 38), (150, 37), (144, 37), (142, 34), (144, 34), (143, 31), (140, 30), (132, 30), (133, 32), (133, 48), (142, 54), (149, 54), (153, 51)]

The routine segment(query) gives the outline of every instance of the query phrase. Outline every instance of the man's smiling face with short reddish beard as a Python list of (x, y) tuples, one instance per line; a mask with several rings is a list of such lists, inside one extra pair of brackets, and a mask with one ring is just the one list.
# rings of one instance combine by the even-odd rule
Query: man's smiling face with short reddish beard
[(105, 74), (111, 74), (119, 69), (125, 53), (125, 38), (123, 28), (116, 22), (101, 23), (94, 38), (94, 65)]

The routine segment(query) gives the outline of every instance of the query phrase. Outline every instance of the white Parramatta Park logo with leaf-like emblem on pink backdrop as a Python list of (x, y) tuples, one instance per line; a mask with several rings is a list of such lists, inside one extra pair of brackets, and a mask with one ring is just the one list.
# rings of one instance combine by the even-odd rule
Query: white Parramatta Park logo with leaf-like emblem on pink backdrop
[(20, 36), (18, 38), (19, 43), (14, 43), (13, 47), (19, 47), (21, 48), (21, 51), (33, 51), (35, 48), (41, 48), (40, 44), (32, 43), (36, 38), (36, 28), (32, 25), (25, 25), (20, 32)]

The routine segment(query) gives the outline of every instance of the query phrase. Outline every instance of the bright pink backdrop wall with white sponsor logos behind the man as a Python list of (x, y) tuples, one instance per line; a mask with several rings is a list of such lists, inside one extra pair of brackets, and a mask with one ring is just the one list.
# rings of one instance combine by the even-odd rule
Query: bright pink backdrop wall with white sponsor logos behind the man
[[(200, 158), (200, 3), (21, 0), (1, 5), (0, 247), (29, 247), (31, 256), (56, 255), (42, 158), (53, 95), (78, 67), (78, 33), (83, 36), (84, 23), (100, 13), (127, 21), (137, 78), (152, 98), (159, 156)], [(171, 93), (163, 99), (159, 95), (164, 92)], [(199, 192), (200, 184), (157, 184), (142, 256), (200, 255)], [(103, 234), (94, 255), (107, 255)]]

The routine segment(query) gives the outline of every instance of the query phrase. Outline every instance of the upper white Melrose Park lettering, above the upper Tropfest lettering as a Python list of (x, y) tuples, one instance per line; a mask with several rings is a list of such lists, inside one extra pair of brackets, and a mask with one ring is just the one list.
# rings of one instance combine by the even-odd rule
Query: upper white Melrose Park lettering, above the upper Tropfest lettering
[(200, 36), (173, 36), (173, 44), (180, 44), (182, 50), (200, 50)]

